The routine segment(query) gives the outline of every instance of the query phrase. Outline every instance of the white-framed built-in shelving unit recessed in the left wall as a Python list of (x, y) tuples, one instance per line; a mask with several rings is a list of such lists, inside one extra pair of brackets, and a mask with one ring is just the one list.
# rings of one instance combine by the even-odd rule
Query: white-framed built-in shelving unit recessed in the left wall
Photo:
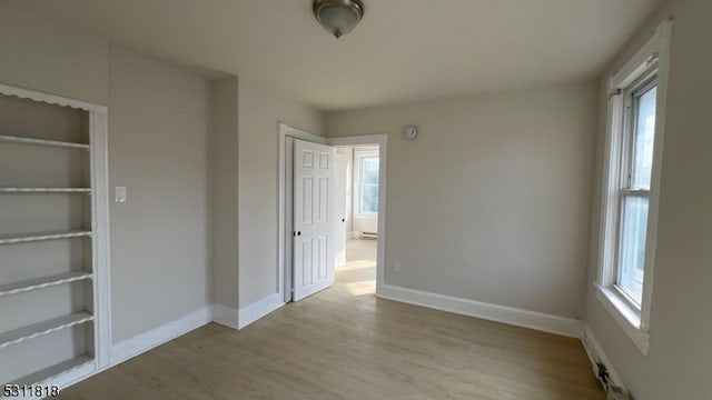
[(107, 109), (0, 83), (0, 387), (63, 389), (109, 359)]

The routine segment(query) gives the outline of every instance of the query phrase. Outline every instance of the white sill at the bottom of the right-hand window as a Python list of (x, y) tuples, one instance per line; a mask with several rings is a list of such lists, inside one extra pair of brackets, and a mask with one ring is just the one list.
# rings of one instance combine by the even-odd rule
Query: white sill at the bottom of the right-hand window
[(596, 298), (603, 304), (613, 319), (621, 326), (625, 334), (635, 343), (637, 349), (647, 356), (650, 347), (650, 332), (641, 327), (640, 311), (632, 308), (622, 296), (613, 288), (595, 284)]

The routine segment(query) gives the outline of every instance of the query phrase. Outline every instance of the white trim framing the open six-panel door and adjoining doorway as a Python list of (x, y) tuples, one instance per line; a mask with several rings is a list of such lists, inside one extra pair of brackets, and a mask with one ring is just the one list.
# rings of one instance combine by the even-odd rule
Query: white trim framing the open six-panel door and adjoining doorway
[(287, 289), (291, 290), (291, 231), (293, 221), (289, 210), (293, 206), (294, 188), (291, 177), (294, 177), (294, 164), (291, 154), (289, 154), (290, 140), (299, 139), (314, 143), (327, 146), (363, 146), (377, 144), (379, 157), (378, 170), (378, 238), (376, 240), (376, 294), (383, 292), (384, 271), (385, 271), (385, 243), (386, 243), (386, 166), (387, 166), (387, 144), (388, 136), (368, 134), (344, 138), (324, 138), (317, 134), (308, 133), (299, 129), (289, 127), (284, 122), (278, 123), (279, 132), (279, 168), (278, 168), (278, 228), (277, 228), (277, 290), (280, 298), (285, 301), (291, 301), (291, 293), (287, 293)]

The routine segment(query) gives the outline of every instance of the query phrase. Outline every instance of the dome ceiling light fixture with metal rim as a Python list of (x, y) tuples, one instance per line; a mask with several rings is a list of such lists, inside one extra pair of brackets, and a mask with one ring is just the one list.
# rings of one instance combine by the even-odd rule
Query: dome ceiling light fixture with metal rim
[(364, 17), (360, 0), (314, 0), (313, 10), (322, 27), (337, 39), (350, 32)]

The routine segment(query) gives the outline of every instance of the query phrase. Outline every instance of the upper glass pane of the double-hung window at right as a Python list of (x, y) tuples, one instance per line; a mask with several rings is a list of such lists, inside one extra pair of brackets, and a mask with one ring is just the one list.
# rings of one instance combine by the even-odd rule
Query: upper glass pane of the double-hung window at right
[(655, 100), (657, 87), (654, 86), (635, 96), (635, 132), (633, 132), (633, 163), (631, 187), (650, 189), (653, 168), (653, 141), (655, 139)]

